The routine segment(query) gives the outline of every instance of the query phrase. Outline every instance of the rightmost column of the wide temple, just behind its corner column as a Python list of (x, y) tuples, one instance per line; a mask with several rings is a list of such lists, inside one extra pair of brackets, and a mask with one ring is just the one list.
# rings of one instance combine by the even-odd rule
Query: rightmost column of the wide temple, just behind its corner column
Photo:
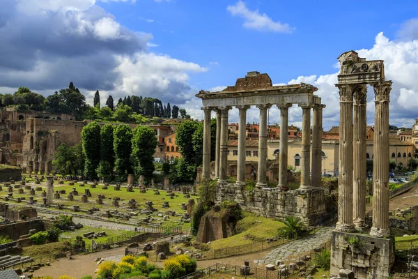
[(322, 116), (325, 105), (314, 105), (312, 117), (312, 186), (321, 186), (322, 176)]

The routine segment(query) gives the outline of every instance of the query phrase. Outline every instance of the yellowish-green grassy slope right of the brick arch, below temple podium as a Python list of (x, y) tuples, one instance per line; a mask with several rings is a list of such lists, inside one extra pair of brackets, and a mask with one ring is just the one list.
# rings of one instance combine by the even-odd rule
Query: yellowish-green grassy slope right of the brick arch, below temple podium
[(240, 246), (252, 243), (254, 240), (265, 241), (268, 237), (276, 236), (277, 229), (284, 226), (283, 223), (271, 218), (255, 216), (253, 213), (248, 212), (244, 214), (245, 218), (238, 221), (237, 224), (238, 229), (242, 232), (226, 239), (212, 241), (210, 243), (211, 249)]

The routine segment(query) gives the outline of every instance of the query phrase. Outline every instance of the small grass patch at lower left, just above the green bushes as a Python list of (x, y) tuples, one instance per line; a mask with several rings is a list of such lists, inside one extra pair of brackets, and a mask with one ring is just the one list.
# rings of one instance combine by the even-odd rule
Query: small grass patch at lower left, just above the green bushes
[[(125, 231), (125, 230), (116, 230), (116, 229), (100, 229), (97, 227), (86, 227), (84, 226), (82, 229), (77, 229), (74, 232), (63, 232), (60, 235), (60, 241), (75, 241), (77, 236), (83, 236), (83, 234), (87, 232), (106, 232), (106, 236), (99, 237), (98, 239), (94, 239), (96, 243), (106, 243), (107, 239), (113, 238), (116, 240), (117, 236), (134, 236), (136, 233), (133, 231)], [(91, 242), (91, 239), (84, 238), (84, 241)]]

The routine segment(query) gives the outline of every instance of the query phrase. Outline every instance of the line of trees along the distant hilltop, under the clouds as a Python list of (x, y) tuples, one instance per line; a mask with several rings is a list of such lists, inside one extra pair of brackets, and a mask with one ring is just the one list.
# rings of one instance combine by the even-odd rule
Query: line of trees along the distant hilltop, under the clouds
[[(114, 98), (109, 96), (105, 106), (100, 108), (100, 93), (95, 92), (93, 98), (93, 107), (86, 104), (86, 97), (79, 91), (75, 85), (70, 82), (66, 89), (55, 91), (54, 94), (46, 98), (38, 93), (32, 92), (27, 87), (20, 87), (14, 94), (6, 93), (0, 94), (0, 107), (8, 105), (17, 106), (20, 111), (47, 111), (51, 113), (65, 113), (75, 115), (77, 119), (104, 119), (122, 121), (118, 114), (129, 112), (129, 114), (136, 114), (138, 116), (148, 116), (150, 118), (173, 118), (182, 119), (190, 118), (185, 109), (180, 109), (170, 103), (163, 105), (161, 100), (157, 98), (142, 98), (142, 96), (127, 96), (119, 98), (118, 103), (114, 105)], [(122, 111), (117, 110), (122, 105)], [(106, 108), (106, 109), (105, 109)], [(114, 115), (116, 114), (116, 115)], [(123, 115), (125, 116), (125, 114)], [(144, 122), (144, 119), (133, 116), (124, 119), (125, 121)]]

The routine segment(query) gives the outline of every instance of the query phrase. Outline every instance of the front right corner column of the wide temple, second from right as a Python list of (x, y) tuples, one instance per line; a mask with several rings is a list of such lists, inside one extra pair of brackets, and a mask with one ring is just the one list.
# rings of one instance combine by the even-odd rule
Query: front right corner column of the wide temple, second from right
[(311, 186), (311, 106), (302, 107), (302, 160), (300, 162), (300, 189), (309, 190)]

